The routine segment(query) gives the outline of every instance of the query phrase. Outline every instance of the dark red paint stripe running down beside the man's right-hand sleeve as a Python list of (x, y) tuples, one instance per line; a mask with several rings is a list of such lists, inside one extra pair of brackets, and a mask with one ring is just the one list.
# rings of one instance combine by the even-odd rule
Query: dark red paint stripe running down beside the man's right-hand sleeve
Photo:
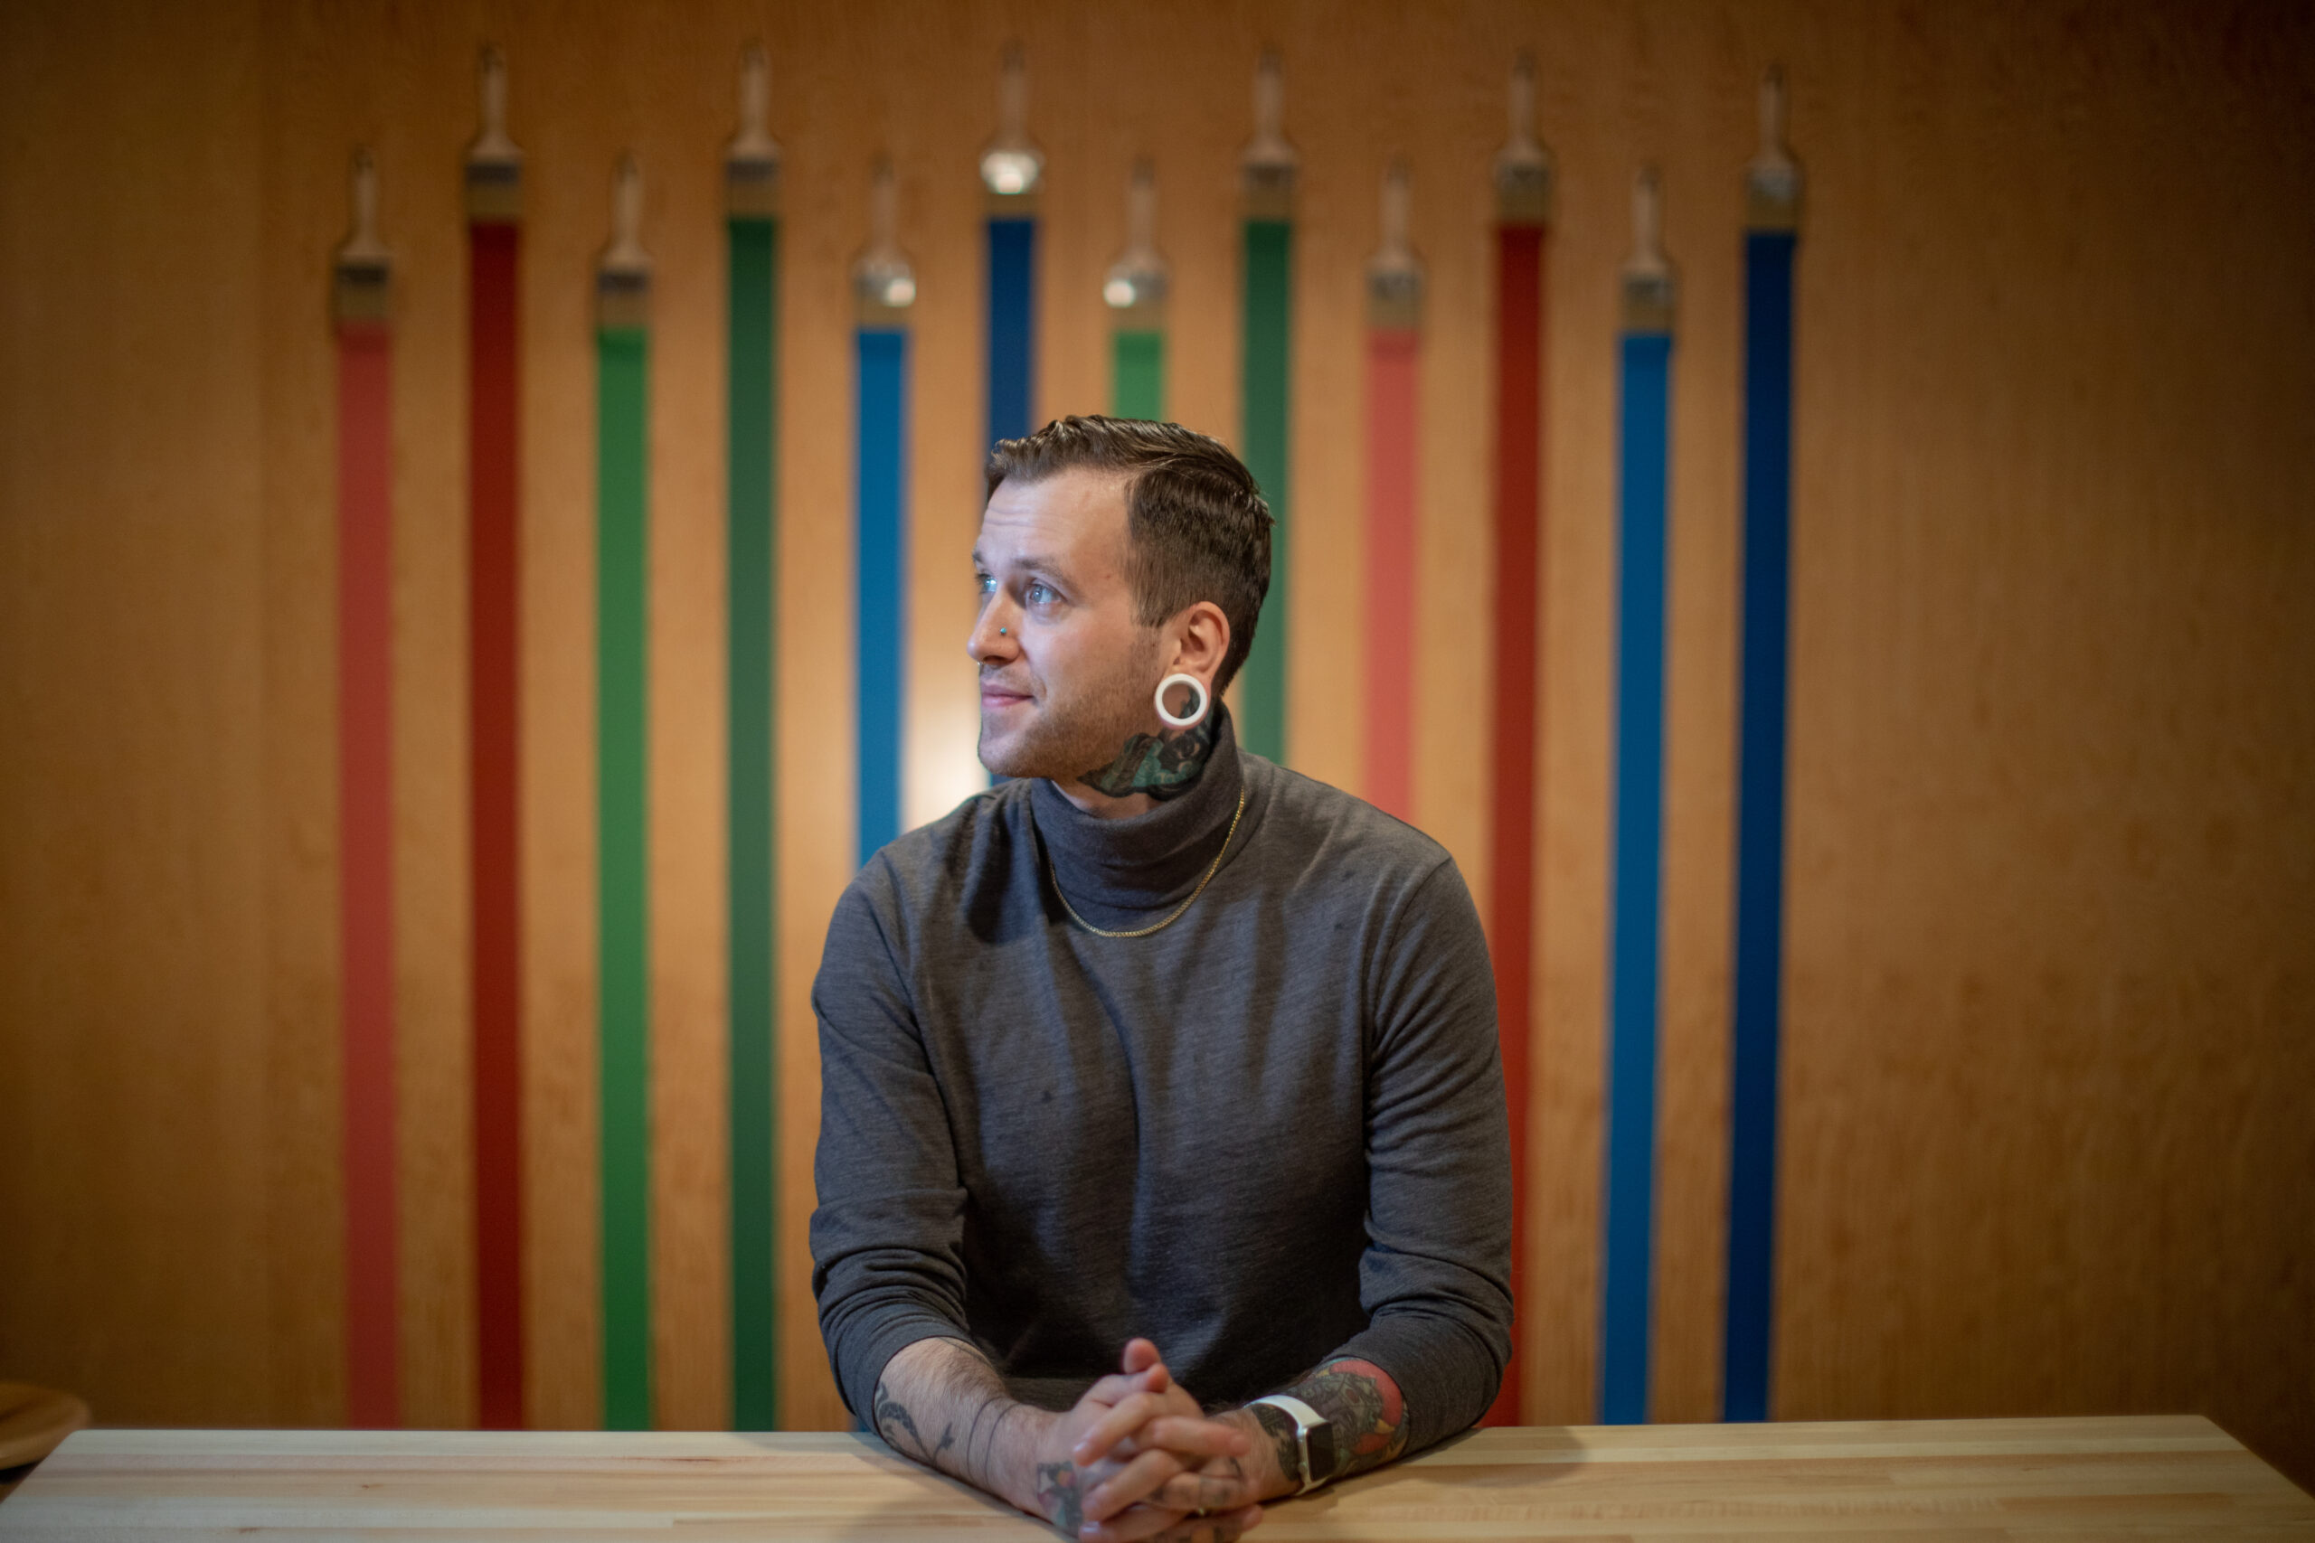
[[(1537, 675), (1542, 592), (1544, 231), (1495, 227), (1495, 701), (1489, 775), (1489, 953), (1512, 1106), (1512, 1302), (1526, 1309), (1528, 1048), (1535, 942)], [(1521, 1316), (1486, 1425), (1519, 1425)]]

